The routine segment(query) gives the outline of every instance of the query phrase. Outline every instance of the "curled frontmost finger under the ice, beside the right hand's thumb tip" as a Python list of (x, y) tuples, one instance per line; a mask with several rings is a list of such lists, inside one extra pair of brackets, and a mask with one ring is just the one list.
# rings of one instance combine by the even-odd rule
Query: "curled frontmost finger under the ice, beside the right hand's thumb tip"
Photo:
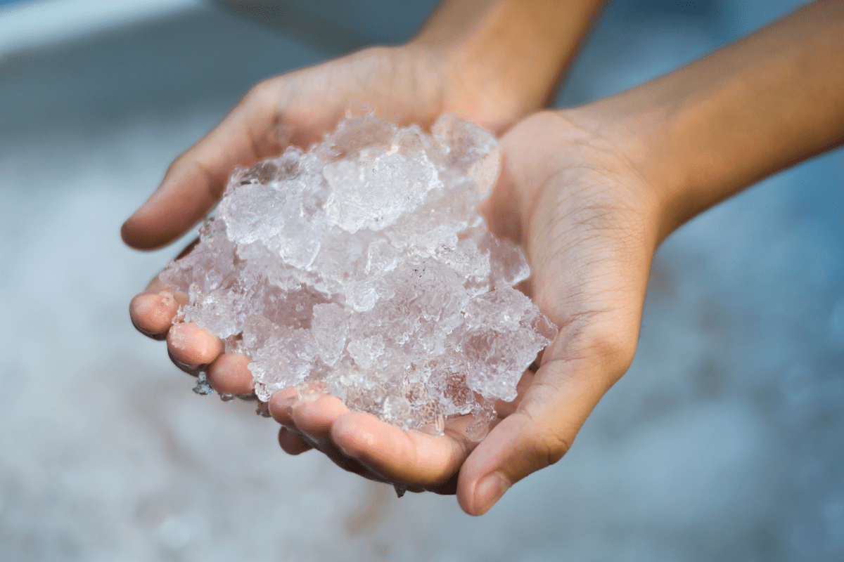
[(445, 436), (430, 436), (403, 431), (371, 414), (351, 412), (334, 422), (331, 435), (345, 454), (384, 479), (437, 486), (457, 472), (473, 447), (466, 438), (469, 421), (452, 424)]

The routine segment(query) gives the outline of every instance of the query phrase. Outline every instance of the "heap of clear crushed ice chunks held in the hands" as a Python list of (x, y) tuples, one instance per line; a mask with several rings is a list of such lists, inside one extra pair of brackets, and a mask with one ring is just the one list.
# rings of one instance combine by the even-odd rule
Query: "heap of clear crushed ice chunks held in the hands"
[(369, 115), (303, 153), (235, 169), (216, 216), (160, 279), (184, 320), (252, 358), (259, 399), (323, 388), (396, 426), (486, 426), (556, 327), (512, 286), (517, 244), (475, 207), (500, 167), (490, 133), (445, 115), (426, 134)]

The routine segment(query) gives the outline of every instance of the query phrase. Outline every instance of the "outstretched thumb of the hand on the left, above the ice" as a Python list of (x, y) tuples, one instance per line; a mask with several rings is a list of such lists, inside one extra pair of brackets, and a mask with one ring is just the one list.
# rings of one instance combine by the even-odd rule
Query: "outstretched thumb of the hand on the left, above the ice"
[(284, 82), (257, 84), (213, 131), (170, 165), (158, 190), (123, 224), (124, 242), (137, 249), (169, 244), (214, 206), (231, 169), (279, 154), (279, 95)]

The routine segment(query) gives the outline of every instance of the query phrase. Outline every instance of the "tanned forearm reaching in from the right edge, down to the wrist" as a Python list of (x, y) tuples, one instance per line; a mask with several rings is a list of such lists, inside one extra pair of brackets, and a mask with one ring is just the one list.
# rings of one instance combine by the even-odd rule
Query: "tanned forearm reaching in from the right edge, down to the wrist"
[(581, 110), (612, 124), (659, 190), (664, 238), (758, 179), (844, 142), (844, 2), (810, 4)]

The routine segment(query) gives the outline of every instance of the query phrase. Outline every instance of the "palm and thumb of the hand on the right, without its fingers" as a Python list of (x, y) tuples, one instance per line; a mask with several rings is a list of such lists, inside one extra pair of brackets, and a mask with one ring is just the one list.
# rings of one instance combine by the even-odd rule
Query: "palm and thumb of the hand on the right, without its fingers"
[(490, 227), (525, 248), (525, 290), (560, 334), (511, 415), (463, 463), (458, 497), (470, 513), (491, 505), (478, 497), (485, 475), (506, 490), (560, 459), (636, 350), (657, 201), (618, 145), (567, 115), (534, 115), (505, 136), (487, 202)]

